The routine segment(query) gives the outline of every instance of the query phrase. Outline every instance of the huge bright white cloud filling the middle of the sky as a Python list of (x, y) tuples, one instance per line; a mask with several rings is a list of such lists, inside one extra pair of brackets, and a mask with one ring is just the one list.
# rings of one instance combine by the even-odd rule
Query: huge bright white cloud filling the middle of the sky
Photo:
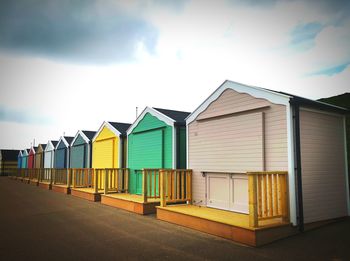
[[(63, 132), (96, 130), (104, 120), (132, 122), (135, 107), (194, 110), (224, 80), (321, 98), (349, 91), (350, 69), (333, 76), (305, 77), (350, 57), (350, 25), (332, 25), (302, 1), (269, 8), (234, 6), (227, 1), (190, 1), (179, 11), (140, 1), (122, 2), (142, 12), (159, 31), (155, 54), (138, 43), (137, 62), (106, 66), (72, 65), (41, 58), (0, 56), (0, 104), (52, 118), (52, 126), (1, 123), (0, 147), (29, 146), (33, 135), (46, 142)], [(327, 25), (307, 52), (290, 49), (299, 24)], [(14, 128), (17, 128), (14, 130)], [(20, 128), (21, 131), (19, 134)], [(12, 133), (20, 139), (10, 138)]]

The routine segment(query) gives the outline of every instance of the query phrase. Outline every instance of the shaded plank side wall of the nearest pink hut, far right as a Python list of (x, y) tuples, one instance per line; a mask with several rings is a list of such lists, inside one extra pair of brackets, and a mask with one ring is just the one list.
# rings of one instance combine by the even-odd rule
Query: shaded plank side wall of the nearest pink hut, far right
[(342, 117), (300, 111), (305, 223), (347, 215)]

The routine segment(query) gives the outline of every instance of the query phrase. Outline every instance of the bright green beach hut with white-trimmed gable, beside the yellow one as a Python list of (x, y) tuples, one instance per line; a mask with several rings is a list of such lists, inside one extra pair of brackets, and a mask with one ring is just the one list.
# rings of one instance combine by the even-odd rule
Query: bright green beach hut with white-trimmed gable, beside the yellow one
[(127, 131), (129, 191), (142, 193), (142, 169), (186, 168), (189, 112), (146, 107)]

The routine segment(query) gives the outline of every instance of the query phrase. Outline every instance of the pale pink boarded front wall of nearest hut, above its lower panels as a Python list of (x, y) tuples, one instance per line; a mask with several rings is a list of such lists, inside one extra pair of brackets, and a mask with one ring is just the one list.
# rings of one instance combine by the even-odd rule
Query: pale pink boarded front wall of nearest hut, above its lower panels
[(195, 204), (206, 201), (201, 171), (288, 170), (286, 107), (225, 90), (188, 125)]

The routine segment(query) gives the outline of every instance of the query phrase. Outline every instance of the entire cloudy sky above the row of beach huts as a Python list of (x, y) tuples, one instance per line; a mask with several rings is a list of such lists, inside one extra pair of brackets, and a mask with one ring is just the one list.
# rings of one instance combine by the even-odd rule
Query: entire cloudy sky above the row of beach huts
[(0, 1), (0, 148), (191, 112), (225, 80), (350, 92), (350, 1)]

